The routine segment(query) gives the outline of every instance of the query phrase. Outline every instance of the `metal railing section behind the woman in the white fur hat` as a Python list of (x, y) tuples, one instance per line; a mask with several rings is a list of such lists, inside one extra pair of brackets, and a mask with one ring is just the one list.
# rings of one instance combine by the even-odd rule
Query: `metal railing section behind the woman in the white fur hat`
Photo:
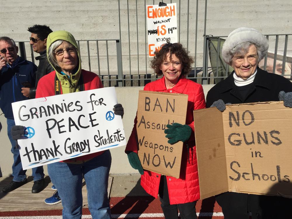
[[(281, 74), (282, 76), (292, 80), (292, 51), (288, 51), (288, 48), (292, 48), (292, 41), (288, 40), (289, 36), (291, 38), (292, 34), (268, 34), (265, 36), (269, 40), (270, 49), (263, 61), (260, 62), (261, 64), (259, 67), (267, 72)], [(226, 63), (224, 63), (225, 66), (220, 65), (220, 62), (222, 62), (222, 58), (220, 58), (222, 45), (226, 38), (227, 36), (204, 36), (202, 84), (215, 84), (216, 82), (228, 77), (228, 75), (232, 72), (233, 68), (228, 66)], [(210, 46), (211, 40), (217, 41), (217, 48), (215, 48), (216, 58), (214, 63), (210, 60), (212, 53), (212, 47)], [(287, 55), (287, 52), (290, 52), (290, 55)]]

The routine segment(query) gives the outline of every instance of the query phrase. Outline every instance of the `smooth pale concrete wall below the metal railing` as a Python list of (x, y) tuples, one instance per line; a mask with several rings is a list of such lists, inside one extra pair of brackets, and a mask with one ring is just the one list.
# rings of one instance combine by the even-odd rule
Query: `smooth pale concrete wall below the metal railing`
[[(207, 95), (207, 92), (210, 90), (210, 88), (213, 85), (203, 85), (205, 96)], [(121, 103), (124, 107), (124, 118), (123, 118), (123, 124), (124, 124), (124, 130), (126, 134), (126, 138), (128, 140), (133, 124), (134, 124), (134, 118), (137, 111), (137, 105), (138, 105), (138, 93), (139, 90), (142, 90), (143, 87), (117, 87), (117, 98), (119, 103)], [(11, 144), (7, 137), (7, 124), (6, 124), (6, 118), (4, 117), (4, 114), (0, 110), (0, 175), (3, 177), (7, 177), (11, 175), (12, 170), (11, 166), (13, 164), (13, 156), (11, 153)], [(124, 153), (125, 146), (118, 147), (111, 150), (112, 153), (112, 167), (110, 170), (110, 173), (112, 174), (118, 174), (118, 173), (138, 173), (138, 171), (134, 170), (129, 162), (127, 155)], [(44, 166), (44, 172), (47, 175), (47, 168), (46, 165)], [(27, 171), (27, 175), (31, 174), (31, 170)]]

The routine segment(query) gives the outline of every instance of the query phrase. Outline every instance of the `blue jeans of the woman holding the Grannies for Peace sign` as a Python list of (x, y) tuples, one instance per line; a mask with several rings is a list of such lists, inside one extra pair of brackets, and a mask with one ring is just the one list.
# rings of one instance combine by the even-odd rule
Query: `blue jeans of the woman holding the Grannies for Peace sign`
[(59, 192), (63, 219), (82, 216), (82, 178), (88, 196), (88, 208), (93, 219), (111, 218), (107, 184), (112, 157), (109, 150), (82, 164), (57, 162), (48, 164), (48, 173)]

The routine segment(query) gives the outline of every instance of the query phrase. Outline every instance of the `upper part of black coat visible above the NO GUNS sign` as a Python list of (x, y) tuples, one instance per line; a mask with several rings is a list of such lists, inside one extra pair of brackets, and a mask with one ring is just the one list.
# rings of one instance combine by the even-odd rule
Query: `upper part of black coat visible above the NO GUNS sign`
[(206, 107), (210, 107), (214, 101), (219, 99), (232, 104), (278, 101), (280, 91), (292, 91), (292, 83), (288, 79), (257, 68), (253, 85), (246, 98), (242, 99), (234, 84), (233, 74), (234, 71), (225, 80), (211, 88), (206, 97)]

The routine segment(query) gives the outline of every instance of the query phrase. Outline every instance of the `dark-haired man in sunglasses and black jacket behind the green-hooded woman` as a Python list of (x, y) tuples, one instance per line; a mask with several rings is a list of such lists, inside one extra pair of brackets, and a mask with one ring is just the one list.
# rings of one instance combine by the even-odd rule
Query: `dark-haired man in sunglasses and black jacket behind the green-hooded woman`
[(27, 29), (31, 32), (29, 37), (29, 44), (32, 45), (32, 49), (34, 52), (39, 53), (35, 59), (39, 60), (39, 66), (36, 71), (36, 84), (31, 88), (22, 88), (22, 92), (24, 96), (34, 98), (36, 95), (36, 87), (39, 82), (39, 79), (44, 75), (54, 71), (51, 64), (47, 59), (47, 37), (53, 32), (50, 27), (46, 25), (38, 25), (35, 24), (32, 27)]

